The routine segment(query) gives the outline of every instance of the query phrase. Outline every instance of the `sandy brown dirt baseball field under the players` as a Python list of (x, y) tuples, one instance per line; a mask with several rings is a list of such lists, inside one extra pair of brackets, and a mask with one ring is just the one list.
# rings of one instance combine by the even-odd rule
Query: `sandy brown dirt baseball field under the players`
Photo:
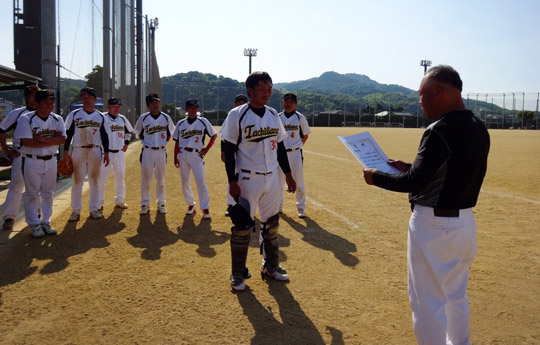
[[(421, 129), (313, 128), (305, 146), (305, 219), (287, 195), (280, 255), (291, 280), (263, 281), (252, 234), (249, 289), (233, 293), (219, 145), (207, 155), (212, 219), (185, 216), (169, 144), (166, 215), (139, 216), (140, 143), (127, 152), (129, 209), (68, 223), (57, 236), (24, 220), (0, 230), (0, 344), (415, 344), (407, 295), (407, 195), (365, 184), (337, 136), (370, 131), (391, 158), (412, 161)], [(473, 344), (540, 344), (540, 131), (490, 131), (474, 209), (478, 256), (469, 284)], [(152, 194), (154, 195), (154, 185)], [(195, 193), (196, 189), (194, 187)], [(154, 199), (155, 200), (155, 199)]]

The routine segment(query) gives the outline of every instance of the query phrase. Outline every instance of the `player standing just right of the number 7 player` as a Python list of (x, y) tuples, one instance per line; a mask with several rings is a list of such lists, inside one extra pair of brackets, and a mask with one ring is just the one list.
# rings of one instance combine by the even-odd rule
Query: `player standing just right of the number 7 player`
[(107, 101), (107, 109), (109, 110), (105, 116), (105, 129), (109, 135), (109, 160), (110, 164), (101, 167), (99, 175), (99, 209), (103, 209), (105, 202), (105, 183), (109, 178), (111, 166), (113, 168), (114, 184), (116, 196), (114, 197), (115, 207), (126, 209), (128, 205), (125, 203), (126, 198), (126, 152), (131, 139), (133, 127), (129, 120), (122, 114), (120, 109), (122, 100), (120, 98), (111, 98)]

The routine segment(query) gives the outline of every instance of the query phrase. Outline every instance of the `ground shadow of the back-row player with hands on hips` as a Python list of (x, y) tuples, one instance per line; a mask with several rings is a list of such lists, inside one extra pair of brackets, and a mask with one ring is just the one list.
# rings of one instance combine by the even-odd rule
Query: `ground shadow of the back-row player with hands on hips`
[(177, 230), (180, 239), (185, 243), (196, 244), (197, 253), (205, 258), (216, 256), (213, 246), (221, 245), (231, 237), (230, 233), (212, 230), (211, 219), (201, 218), (199, 224), (195, 224), (194, 215), (186, 215)]

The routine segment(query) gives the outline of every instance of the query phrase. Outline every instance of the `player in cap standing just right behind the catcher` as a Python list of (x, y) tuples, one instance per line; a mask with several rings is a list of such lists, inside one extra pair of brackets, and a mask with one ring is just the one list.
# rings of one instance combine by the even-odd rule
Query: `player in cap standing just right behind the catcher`
[[(287, 93), (283, 96), (281, 102), (283, 112), (279, 114), (281, 123), (287, 131), (287, 138), (283, 140), (287, 149), (287, 156), (291, 166), (291, 173), (296, 182), (296, 208), (298, 217), (306, 216), (306, 187), (304, 185), (304, 156), (302, 155), (302, 147), (306, 143), (311, 129), (307, 123), (306, 117), (296, 111), (298, 104), (294, 93)], [(279, 172), (279, 180), (281, 190), (285, 191), (285, 175)], [(281, 205), (283, 206), (284, 195), (281, 196)]]

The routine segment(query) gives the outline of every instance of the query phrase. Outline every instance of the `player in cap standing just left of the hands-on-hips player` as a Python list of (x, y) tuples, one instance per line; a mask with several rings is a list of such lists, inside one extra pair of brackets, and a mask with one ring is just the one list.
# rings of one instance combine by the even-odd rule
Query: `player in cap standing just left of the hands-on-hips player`
[(156, 202), (159, 213), (167, 213), (165, 208), (165, 167), (167, 165), (167, 143), (174, 132), (171, 117), (161, 111), (157, 93), (146, 96), (148, 112), (142, 114), (135, 123), (134, 132), (142, 141), (141, 152), (141, 210), (150, 212), (150, 183), (152, 175), (156, 179)]

